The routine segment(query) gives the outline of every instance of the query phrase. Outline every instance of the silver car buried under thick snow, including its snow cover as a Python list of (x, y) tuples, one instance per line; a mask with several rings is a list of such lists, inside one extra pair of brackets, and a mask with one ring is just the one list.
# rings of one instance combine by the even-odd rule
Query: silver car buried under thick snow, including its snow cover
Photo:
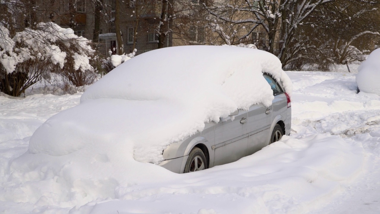
[[(101, 151), (177, 173), (236, 161), (290, 134), (291, 81), (274, 55), (179, 46), (124, 62), (48, 119), (29, 153)], [(101, 148), (101, 149), (99, 149)]]

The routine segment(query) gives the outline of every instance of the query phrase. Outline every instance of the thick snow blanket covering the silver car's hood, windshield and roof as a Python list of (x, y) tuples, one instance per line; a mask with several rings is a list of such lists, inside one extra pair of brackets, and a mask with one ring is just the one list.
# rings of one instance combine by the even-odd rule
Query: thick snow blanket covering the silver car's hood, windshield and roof
[(30, 153), (62, 156), (78, 150), (120, 153), (159, 163), (162, 150), (236, 109), (272, 104), (262, 73), (291, 81), (274, 55), (250, 48), (179, 46), (149, 51), (119, 65), (91, 86), (81, 104), (47, 120), (30, 139)]

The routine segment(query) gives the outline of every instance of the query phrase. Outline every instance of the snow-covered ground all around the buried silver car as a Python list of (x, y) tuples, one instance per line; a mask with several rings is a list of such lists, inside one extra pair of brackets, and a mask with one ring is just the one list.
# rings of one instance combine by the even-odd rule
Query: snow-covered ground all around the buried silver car
[(0, 213), (378, 214), (380, 96), (356, 94), (355, 73), (337, 70), (287, 72), (291, 136), (204, 171), (174, 174), (151, 164), (162, 174), (141, 172), (147, 177), (128, 185), (78, 179), (69, 186), (43, 167), (17, 170), (36, 128), (78, 105), (81, 93), (0, 96)]

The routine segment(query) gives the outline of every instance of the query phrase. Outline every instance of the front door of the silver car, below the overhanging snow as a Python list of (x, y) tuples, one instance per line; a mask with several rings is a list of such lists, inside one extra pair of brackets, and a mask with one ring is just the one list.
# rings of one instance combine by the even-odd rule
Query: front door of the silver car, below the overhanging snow
[(214, 166), (237, 161), (246, 155), (248, 113), (239, 110), (238, 115), (228, 117), (215, 125)]

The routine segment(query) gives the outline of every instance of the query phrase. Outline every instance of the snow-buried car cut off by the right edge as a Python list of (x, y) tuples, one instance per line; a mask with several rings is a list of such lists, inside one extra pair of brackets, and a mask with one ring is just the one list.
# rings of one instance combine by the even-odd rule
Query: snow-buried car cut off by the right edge
[(380, 95), (380, 49), (376, 49), (369, 54), (366, 61), (358, 68), (356, 83), (358, 92), (373, 93)]

